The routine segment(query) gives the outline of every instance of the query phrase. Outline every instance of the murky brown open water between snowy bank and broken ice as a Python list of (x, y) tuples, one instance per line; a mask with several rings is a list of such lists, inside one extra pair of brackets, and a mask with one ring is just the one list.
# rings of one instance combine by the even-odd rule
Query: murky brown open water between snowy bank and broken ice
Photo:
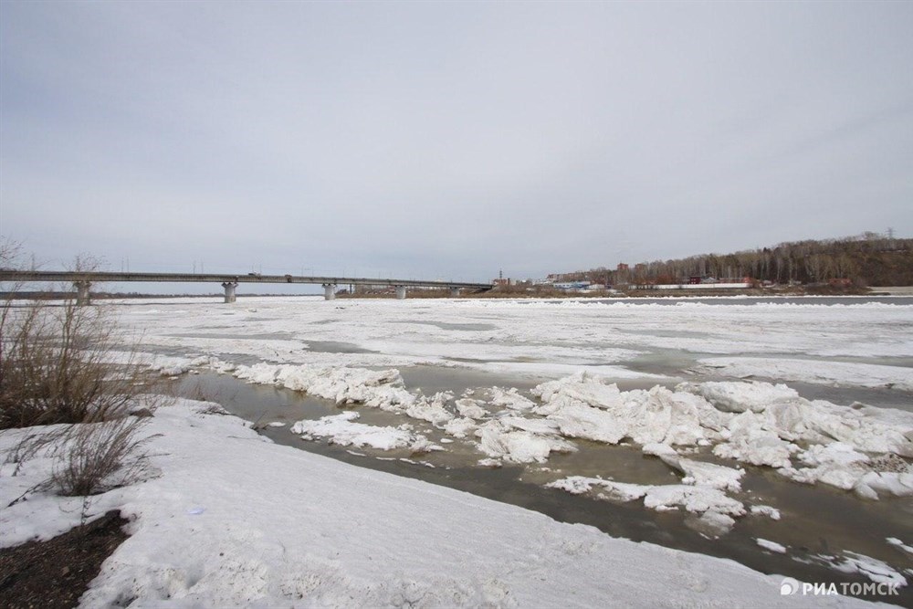
[[(522, 393), (537, 384), (518, 381), (490, 373), (415, 367), (401, 370), (406, 386), (425, 394), (452, 391), (457, 396), (467, 389), (480, 387), (518, 387)], [(413, 455), (408, 450), (379, 451), (330, 445), (325, 441), (304, 441), (290, 433), (289, 426), (301, 419), (337, 415), (341, 408), (328, 400), (266, 385), (251, 385), (234, 377), (215, 373), (185, 376), (176, 383), (178, 393), (200, 399), (205, 397), (235, 415), (257, 425), (270, 422), (284, 427), (264, 427), (261, 431), (278, 444), (332, 457), (360, 467), (369, 467), (399, 476), (464, 490), (488, 499), (510, 503), (547, 514), (556, 520), (593, 525), (615, 537), (648, 541), (685, 551), (697, 551), (741, 562), (752, 569), (778, 573), (814, 583), (860, 582), (858, 575), (834, 571), (816, 557), (855, 551), (887, 562), (898, 571), (913, 569), (913, 557), (885, 541), (896, 537), (913, 544), (913, 499), (864, 501), (850, 493), (825, 485), (805, 486), (782, 478), (765, 467), (746, 466), (742, 491), (731, 497), (750, 505), (770, 505), (780, 509), (782, 520), (766, 516), (746, 516), (737, 520), (728, 534), (709, 539), (695, 526), (695, 519), (684, 512), (656, 512), (639, 502), (613, 503), (542, 485), (558, 478), (579, 475), (614, 478), (638, 484), (676, 483), (678, 476), (655, 457), (644, 456), (636, 446), (606, 446), (575, 440), (578, 452), (552, 455), (545, 464), (509, 466), (496, 469), (478, 467), (485, 457), (469, 440), (445, 436), (430, 424), (379, 409), (352, 407), (368, 425), (396, 426), (409, 423), (415, 432), (440, 443), (444, 452)], [(620, 385), (622, 383), (619, 383)], [(653, 383), (630, 382), (623, 389), (652, 386)], [(689, 456), (724, 463), (707, 451)], [(407, 461), (401, 460), (407, 459)], [(764, 551), (756, 539), (776, 541), (789, 548), (787, 554)], [(811, 561), (813, 563), (801, 562)], [(909, 579), (909, 578), (908, 578)], [(913, 606), (913, 591), (901, 588), (900, 596), (873, 597), (888, 603)]]

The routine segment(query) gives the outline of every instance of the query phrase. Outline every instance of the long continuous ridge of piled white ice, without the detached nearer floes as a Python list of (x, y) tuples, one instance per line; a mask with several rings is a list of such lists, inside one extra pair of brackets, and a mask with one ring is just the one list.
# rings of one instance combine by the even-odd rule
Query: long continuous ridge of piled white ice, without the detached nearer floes
[(396, 370), (259, 363), (235, 374), (427, 421), (448, 436), (474, 438), (480, 452), (504, 462), (542, 462), (575, 450), (576, 438), (631, 442), (647, 454), (647, 446), (665, 446), (656, 455), (684, 483), (739, 490), (742, 470), (681, 457), (712, 446), (716, 457), (866, 499), (913, 495), (913, 468), (905, 460), (913, 457), (913, 413), (809, 401), (783, 384), (679, 383), (623, 392), (603, 377), (577, 373), (540, 383), (530, 392), (538, 401), (498, 387), (455, 400), (450, 393), (410, 393)]

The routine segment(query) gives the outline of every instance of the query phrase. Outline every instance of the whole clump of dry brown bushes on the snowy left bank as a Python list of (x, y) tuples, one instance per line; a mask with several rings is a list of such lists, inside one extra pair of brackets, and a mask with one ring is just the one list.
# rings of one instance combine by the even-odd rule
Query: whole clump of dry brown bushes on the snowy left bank
[[(0, 263), (10, 251), (0, 244)], [(89, 496), (142, 475), (139, 452), (149, 438), (140, 431), (162, 399), (143, 394), (135, 344), (117, 328), (107, 307), (17, 301), (15, 291), (3, 302), (0, 430), (29, 428), (5, 460), (16, 463), (16, 476), (39, 453), (54, 459), (50, 478), (34, 489)], [(126, 358), (112, 356), (124, 350)]]

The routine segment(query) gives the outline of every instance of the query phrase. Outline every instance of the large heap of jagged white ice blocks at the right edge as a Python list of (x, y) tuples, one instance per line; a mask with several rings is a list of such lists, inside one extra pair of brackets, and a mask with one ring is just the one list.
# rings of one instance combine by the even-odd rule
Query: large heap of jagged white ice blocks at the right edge
[[(628, 437), (667, 446), (669, 455), (681, 446), (713, 444), (717, 457), (776, 467), (797, 481), (852, 488), (868, 499), (913, 494), (913, 470), (903, 459), (883, 471), (887, 467), (867, 455), (913, 457), (913, 413), (812, 402), (785, 385), (758, 382), (621, 392), (580, 373), (542, 383), (532, 393), (543, 403), (534, 412), (556, 421), (563, 436), (608, 444)], [(796, 467), (803, 464), (809, 467)]]

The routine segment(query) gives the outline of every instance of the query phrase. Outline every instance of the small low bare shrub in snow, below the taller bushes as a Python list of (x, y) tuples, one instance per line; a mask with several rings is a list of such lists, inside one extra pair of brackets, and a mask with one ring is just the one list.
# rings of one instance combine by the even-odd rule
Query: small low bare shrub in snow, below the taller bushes
[(53, 486), (63, 495), (86, 497), (137, 481), (146, 463), (139, 450), (150, 439), (139, 435), (145, 423), (127, 416), (71, 426), (60, 445)]

